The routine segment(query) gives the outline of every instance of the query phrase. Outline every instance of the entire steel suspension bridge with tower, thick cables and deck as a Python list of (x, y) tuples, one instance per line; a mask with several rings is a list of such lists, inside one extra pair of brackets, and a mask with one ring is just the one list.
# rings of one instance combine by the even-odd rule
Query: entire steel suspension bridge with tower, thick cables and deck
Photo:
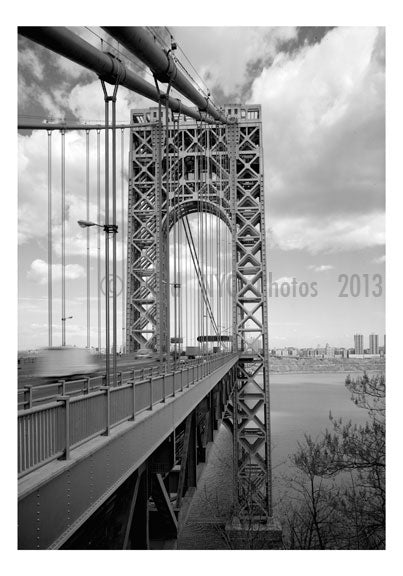
[[(85, 138), (85, 214), (74, 235), (86, 261), (86, 347), (96, 325), (104, 362), (94, 376), (19, 390), (19, 547), (85, 548), (100, 522), (113, 527), (117, 547), (175, 542), (220, 422), (233, 437), (228, 531), (239, 547), (247, 529), (261, 547), (278, 547), (261, 108), (217, 107), (186, 73), (173, 39), (164, 46), (146, 28), (103, 32), (109, 44), (98, 47), (67, 28), (19, 28), (98, 76), (105, 114), (93, 124), (19, 119), (19, 130), (40, 131), (47, 146), (50, 348), (68, 345), (69, 135)], [(133, 71), (133, 58), (151, 82)], [(153, 102), (128, 110), (126, 124), (116, 119), (123, 88)], [(139, 351), (149, 353), (142, 364)]]

